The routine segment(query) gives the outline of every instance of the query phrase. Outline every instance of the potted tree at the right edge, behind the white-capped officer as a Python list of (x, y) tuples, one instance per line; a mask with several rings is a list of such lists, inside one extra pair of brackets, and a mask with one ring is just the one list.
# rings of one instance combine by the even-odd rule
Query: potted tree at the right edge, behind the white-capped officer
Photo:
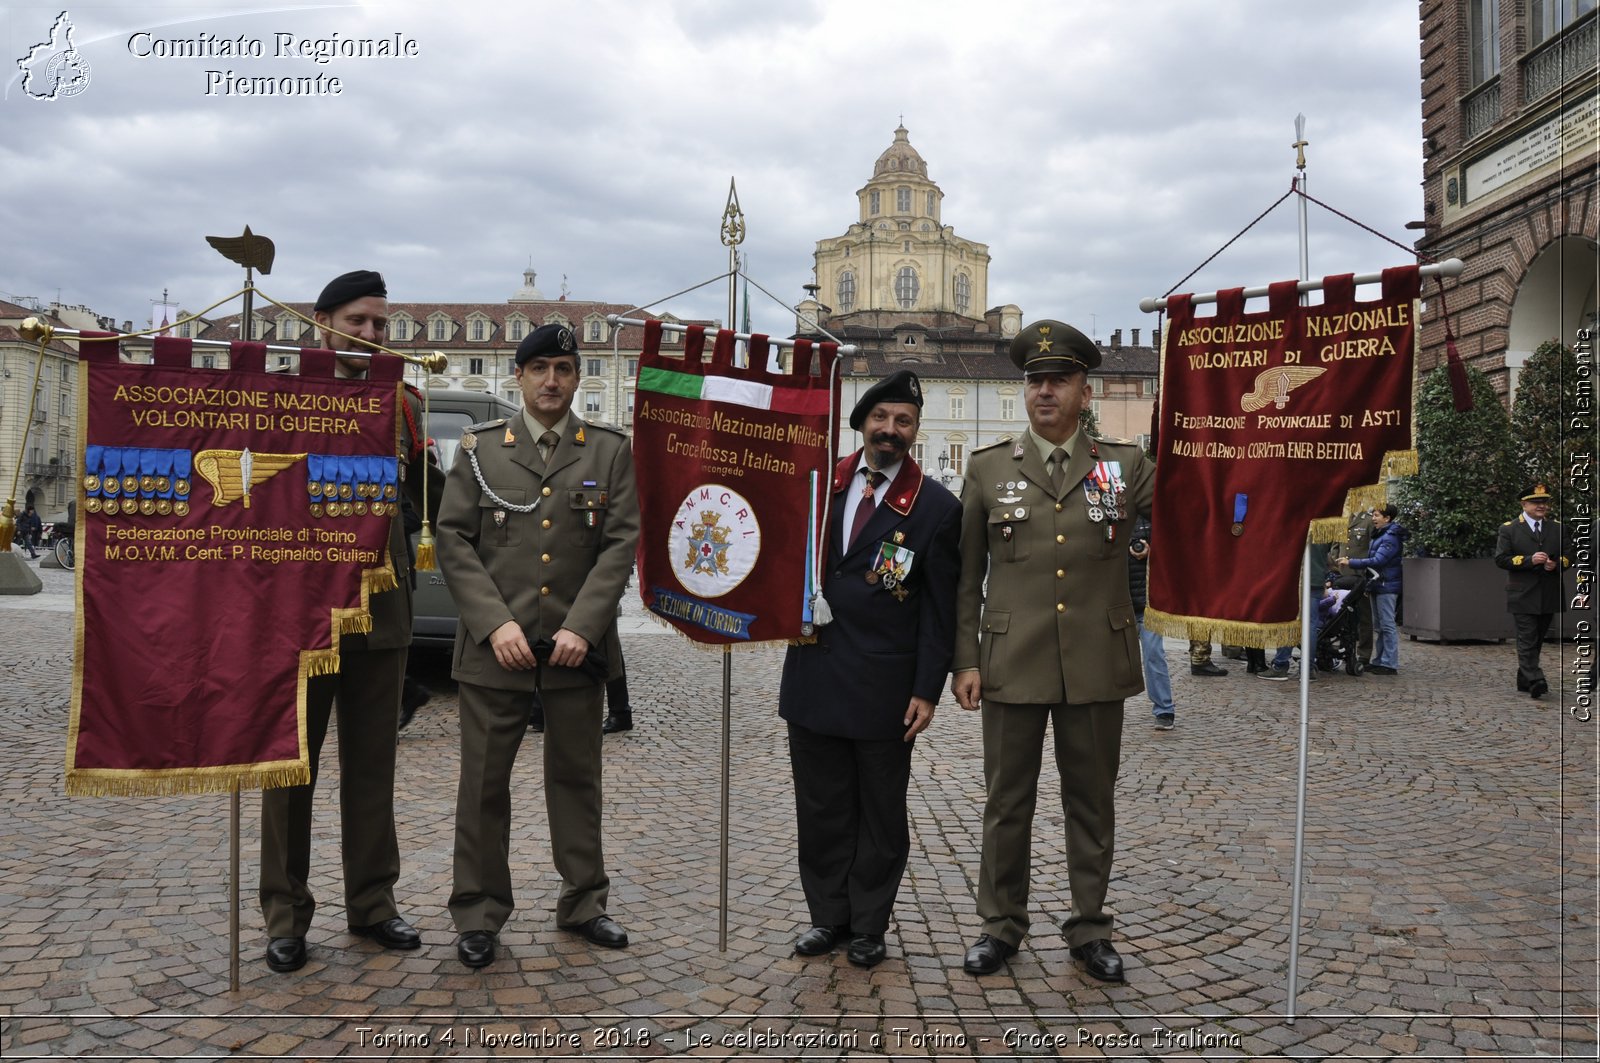
[[(1581, 493), (1573, 490), (1573, 469), (1579, 455), (1592, 447), (1594, 429), (1586, 434), (1578, 424), (1594, 424), (1592, 418), (1574, 416), (1579, 407), (1578, 355), (1558, 339), (1539, 344), (1517, 378), (1517, 399), (1510, 408), (1510, 434), (1522, 466), (1522, 483), (1544, 483), (1554, 501), (1550, 515), (1571, 532), (1592, 514), (1579, 509)], [(1578, 589), (1578, 570), (1566, 570), (1566, 600)], [(1594, 620), (1594, 607), (1582, 613), (1568, 610), (1555, 615), (1549, 639), (1576, 634), (1579, 620)], [(1590, 628), (1592, 631), (1592, 628)]]

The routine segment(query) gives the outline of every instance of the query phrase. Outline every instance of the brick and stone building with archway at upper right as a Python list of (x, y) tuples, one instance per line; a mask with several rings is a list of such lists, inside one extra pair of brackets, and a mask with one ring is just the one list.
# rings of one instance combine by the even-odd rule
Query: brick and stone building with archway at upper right
[(1600, 14), (1595, 0), (1422, 0), (1424, 224), (1467, 269), (1424, 288), (1419, 367), (1462, 359), (1510, 400), (1547, 339), (1595, 327)]

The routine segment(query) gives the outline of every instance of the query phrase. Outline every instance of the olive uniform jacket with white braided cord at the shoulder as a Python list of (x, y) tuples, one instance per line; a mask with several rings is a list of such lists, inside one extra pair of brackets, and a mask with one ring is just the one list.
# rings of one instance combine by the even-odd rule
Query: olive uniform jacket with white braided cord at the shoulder
[(616, 671), (616, 608), (637, 546), (634, 453), (621, 431), (573, 416), (546, 464), (520, 416), (469, 429), (438, 514), (438, 564), (461, 610), (451, 676), (499, 690), (594, 682), (576, 668), (501, 668), (490, 634), (509, 620), (530, 645), (566, 628)]

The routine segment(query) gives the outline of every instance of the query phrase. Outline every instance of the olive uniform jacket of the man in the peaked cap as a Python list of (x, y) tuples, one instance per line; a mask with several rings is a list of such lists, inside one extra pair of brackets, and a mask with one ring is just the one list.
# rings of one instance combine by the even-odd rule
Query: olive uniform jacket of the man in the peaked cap
[[(1067, 453), (1059, 493), (1027, 435), (966, 463), (955, 671), (979, 669), (984, 700), (1083, 704), (1144, 690), (1128, 541), (1134, 517), (1150, 514), (1155, 464), (1128, 440), (1082, 429)], [(1125, 488), (1122, 519), (1085, 491), (1110, 463)]]

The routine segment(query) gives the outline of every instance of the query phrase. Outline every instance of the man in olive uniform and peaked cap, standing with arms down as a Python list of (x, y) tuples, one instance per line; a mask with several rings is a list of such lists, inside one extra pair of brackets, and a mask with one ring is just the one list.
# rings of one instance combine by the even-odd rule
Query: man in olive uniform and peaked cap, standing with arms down
[[(1094, 343), (1035, 322), (1011, 343), (1029, 431), (973, 453), (962, 485), (955, 696), (982, 704), (982, 937), (963, 967), (992, 973), (1027, 933), (1029, 852), (1046, 722), (1067, 813), (1072, 956), (1122, 981), (1102, 911), (1115, 840), (1122, 704), (1144, 688), (1128, 597), (1128, 540), (1149, 515), (1155, 466), (1126, 440), (1085, 434)], [(987, 600), (984, 584), (987, 580)]]

